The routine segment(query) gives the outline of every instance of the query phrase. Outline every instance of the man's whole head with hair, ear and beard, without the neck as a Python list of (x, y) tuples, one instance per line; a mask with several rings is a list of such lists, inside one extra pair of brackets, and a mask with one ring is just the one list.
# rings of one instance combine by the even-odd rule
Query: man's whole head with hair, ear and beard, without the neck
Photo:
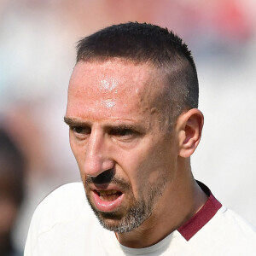
[(197, 98), (194, 62), (166, 29), (128, 23), (79, 42), (65, 121), (103, 226), (129, 232), (165, 212), (182, 175), (178, 159), (199, 142)]

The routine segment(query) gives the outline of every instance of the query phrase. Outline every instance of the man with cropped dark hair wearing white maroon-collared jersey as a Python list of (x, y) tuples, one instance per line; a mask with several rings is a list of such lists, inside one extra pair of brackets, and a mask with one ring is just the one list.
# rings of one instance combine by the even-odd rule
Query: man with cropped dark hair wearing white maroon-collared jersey
[(79, 41), (64, 119), (84, 186), (38, 206), (25, 254), (255, 255), (253, 229), (191, 173), (197, 106), (193, 58), (167, 29), (126, 23)]

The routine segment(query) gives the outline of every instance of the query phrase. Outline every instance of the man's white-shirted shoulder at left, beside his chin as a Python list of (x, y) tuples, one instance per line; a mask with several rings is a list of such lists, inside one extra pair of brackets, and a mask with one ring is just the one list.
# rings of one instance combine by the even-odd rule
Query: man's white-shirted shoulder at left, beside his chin
[(83, 184), (65, 184), (38, 205), (24, 255), (80, 255), (81, 250), (90, 247), (92, 233), (99, 234), (101, 229), (86, 200)]

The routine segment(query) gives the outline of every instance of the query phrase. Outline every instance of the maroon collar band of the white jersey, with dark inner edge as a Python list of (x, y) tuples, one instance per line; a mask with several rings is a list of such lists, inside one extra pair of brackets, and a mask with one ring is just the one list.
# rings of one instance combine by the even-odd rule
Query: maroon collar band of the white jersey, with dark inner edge
[(203, 207), (196, 212), (185, 224), (183, 224), (177, 231), (187, 240), (194, 236), (207, 222), (218, 212), (222, 207), (221, 203), (212, 195), (210, 189), (199, 181), (197, 181), (201, 189), (209, 195), (208, 200)]

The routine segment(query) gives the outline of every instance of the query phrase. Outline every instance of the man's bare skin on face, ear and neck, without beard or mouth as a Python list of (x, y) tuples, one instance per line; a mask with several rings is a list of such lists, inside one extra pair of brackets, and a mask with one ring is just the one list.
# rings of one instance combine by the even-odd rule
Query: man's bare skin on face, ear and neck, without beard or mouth
[[(134, 201), (153, 205), (143, 224), (116, 232), (126, 247), (153, 245), (207, 201), (189, 163), (201, 138), (203, 115), (198, 109), (184, 111), (170, 131), (161, 105), (166, 86), (160, 70), (120, 59), (79, 62), (70, 79), (65, 120), (89, 201), (96, 205), (90, 177), (112, 170), (130, 189), (119, 186), (124, 198), (113, 211), (116, 218), (100, 212), (106, 224), (119, 224)], [(105, 183), (103, 189), (112, 185)], [(150, 189), (155, 189), (153, 200)]]

